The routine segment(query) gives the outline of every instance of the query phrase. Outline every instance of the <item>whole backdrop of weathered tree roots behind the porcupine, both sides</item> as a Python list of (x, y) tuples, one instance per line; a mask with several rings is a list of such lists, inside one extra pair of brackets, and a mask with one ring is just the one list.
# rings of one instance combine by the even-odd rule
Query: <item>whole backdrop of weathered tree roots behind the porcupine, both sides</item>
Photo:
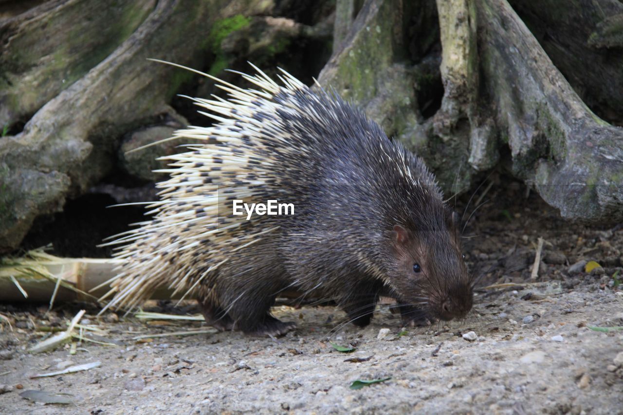
[(181, 87), (215, 90), (146, 58), (228, 80), (245, 60), (307, 77), (331, 34), (320, 83), (424, 157), (448, 194), (500, 166), (564, 217), (623, 219), (621, 2), (332, 4), (52, 0), (0, 21), (0, 250), (112, 172), (154, 179), (136, 171), (153, 153), (118, 149), (186, 123), (169, 106), (184, 110)]

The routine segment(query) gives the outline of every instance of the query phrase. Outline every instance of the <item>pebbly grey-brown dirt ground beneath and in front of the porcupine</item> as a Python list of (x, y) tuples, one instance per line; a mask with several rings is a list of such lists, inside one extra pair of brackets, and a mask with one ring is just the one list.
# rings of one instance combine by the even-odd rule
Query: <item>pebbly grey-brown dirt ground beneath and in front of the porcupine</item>
[[(616, 329), (623, 326), (623, 228), (570, 225), (535, 196), (518, 196), (517, 187), (488, 189), (482, 200), (492, 202), (465, 230), (481, 288), (464, 321), (403, 329), (385, 305), (361, 330), (343, 324), (345, 314), (330, 305), (279, 305), (275, 315), (298, 325), (282, 338), (156, 337), (211, 328), (97, 318), (93, 305), (46, 314), (45, 306), (4, 304), (0, 314), (11, 327), (2, 322), (0, 413), (623, 414), (623, 331)], [(541, 262), (531, 279), (539, 237)], [(586, 272), (581, 261), (601, 267)], [(26, 352), (49, 335), (37, 328), (64, 328), (85, 307), (82, 323), (117, 346)], [(148, 308), (198, 313), (194, 305)], [(384, 328), (389, 335), (379, 339)], [(331, 343), (356, 350), (342, 353)], [(31, 378), (95, 361), (101, 365), (88, 371)], [(373, 379), (386, 380), (350, 388)], [(72, 403), (34, 403), (20, 396), (29, 389), (68, 393)]]

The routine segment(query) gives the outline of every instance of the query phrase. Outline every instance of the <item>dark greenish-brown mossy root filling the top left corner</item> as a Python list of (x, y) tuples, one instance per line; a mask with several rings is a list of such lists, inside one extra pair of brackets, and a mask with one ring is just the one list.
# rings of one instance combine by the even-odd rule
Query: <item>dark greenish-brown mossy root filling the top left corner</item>
[(0, 126), (26, 121), (102, 62), (145, 21), (155, 0), (44, 2), (0, 24)]

